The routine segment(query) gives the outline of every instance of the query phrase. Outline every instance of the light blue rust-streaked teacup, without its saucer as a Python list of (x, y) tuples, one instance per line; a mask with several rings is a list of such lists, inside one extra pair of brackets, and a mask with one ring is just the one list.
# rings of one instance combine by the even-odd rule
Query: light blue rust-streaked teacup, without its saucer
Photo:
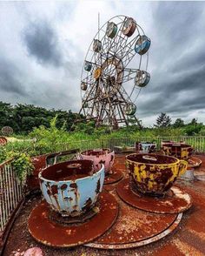
[(91, 160), (70, 160), (39, 173), (43, 197), (63, 217), (80, 216), (95, 204), (104, 182), (104, 165)]

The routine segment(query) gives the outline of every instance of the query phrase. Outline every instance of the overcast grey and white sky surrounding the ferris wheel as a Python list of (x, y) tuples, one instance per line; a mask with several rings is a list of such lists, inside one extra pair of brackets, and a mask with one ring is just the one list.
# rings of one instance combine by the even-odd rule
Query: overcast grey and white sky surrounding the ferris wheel
[(1, 2), (0, 100), (79, 111), (83, 60), (101, 24), (134, 17), (151, 38), (137, 116), (205, 123), (205, 2)]

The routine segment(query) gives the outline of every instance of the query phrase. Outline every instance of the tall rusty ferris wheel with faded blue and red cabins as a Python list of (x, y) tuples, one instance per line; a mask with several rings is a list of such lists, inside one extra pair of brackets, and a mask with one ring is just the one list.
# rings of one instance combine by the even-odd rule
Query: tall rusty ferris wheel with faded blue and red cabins
[(116, 16), (103, 24), (83, 63), (80, 113), (96, 126), (137, 121), (136, 98), (150, 79), (150, 44), (132, 17)]

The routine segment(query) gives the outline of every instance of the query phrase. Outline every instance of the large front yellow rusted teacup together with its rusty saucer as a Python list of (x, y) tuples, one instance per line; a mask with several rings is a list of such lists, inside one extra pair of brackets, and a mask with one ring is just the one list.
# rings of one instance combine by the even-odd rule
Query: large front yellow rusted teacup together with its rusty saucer
[(129, 179), (117, 193), (129, 205), (148, 212), (179, 213), (188, 210), (192, 199), (174, 185), (187, 169), (187, 161), (160, 154), (131, 154), (126, 157)]

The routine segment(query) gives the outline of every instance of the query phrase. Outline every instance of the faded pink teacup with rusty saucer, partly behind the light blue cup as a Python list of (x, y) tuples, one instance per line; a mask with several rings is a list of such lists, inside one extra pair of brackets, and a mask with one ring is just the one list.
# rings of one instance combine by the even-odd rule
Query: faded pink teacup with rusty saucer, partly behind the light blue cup
[(104, 165), (105, 179), (104, 184), (113, 184), (122, 179), (122, 171), (116, 168), (114, 164), (115, 152), (109, 148), (90, 149), (79, 154), (80, 158), (94, 161), (94, 165), (99, 167)]

